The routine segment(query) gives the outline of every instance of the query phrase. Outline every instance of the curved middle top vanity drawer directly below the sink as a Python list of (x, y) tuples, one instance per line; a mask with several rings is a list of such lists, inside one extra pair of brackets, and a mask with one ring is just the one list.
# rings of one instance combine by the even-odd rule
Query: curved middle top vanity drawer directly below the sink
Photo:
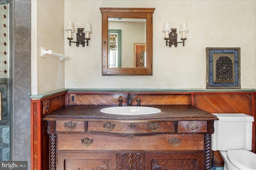
[(148, 123), (112, 123), (88, 121), (89, 132), (109, 133), (160, 133), (175, 132), (174, 121), (148, 122)]

